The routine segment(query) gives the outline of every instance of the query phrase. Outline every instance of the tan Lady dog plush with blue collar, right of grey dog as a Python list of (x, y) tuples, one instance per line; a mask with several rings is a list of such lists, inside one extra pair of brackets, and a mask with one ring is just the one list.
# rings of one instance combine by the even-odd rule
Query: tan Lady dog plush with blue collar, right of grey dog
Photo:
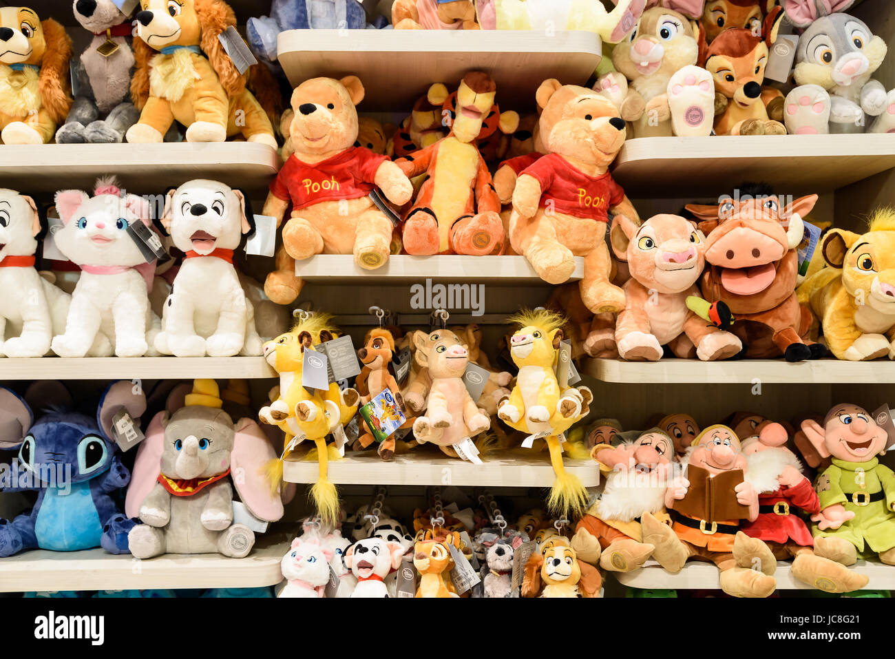
[(177, 121), (187, 127), (186, 141), (239, 134), (276, 149), (265, 108), (217, 39), (236, 25), (230, 6), (221, 0), (141, 0), (140, 6), (131, 96), (141, 116), (127, 141), (160, 142)]

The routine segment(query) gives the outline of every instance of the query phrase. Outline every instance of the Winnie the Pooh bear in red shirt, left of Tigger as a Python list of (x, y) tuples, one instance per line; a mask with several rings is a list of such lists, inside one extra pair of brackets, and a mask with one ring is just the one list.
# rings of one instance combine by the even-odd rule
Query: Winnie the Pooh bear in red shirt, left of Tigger
[(277, 304), (292, 303), (302, 289), (294, 260), (353, 253), (368, 270), (388, 261), (392, 221), (370, 193), (379, 187), (388, 201), (402, 206), (410, 201), (413, 186), (387, 156), (354, 145), (355, 106), (362, 99), (363, 85), (354, 75), (340, 81), (313, 78), (293, 92), (289, 137), (294, 153), (270, 184), (263, 210), (280, 223), (290, 203), (293, 209), (283, 227), (277, 270), (264, 285)]

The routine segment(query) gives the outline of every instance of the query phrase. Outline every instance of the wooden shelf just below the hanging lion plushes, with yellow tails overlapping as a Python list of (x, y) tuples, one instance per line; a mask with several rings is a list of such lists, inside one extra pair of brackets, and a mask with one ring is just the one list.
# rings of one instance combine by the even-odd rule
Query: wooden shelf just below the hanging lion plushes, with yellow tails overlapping
[[(479, 487), (550, 487), (553, 469), (547, 452), (519, 449), (483, 456), (482, 465), (448, 458), (433, 447), (414, 449), (406, 455), (383, 462), (374, 449), (348, 452), (341, 460), (329, 462), (329, 478), (335, 484), (350, 485), (457, 485)], [(577, 475), (584, 487), (600, 483), (600, 470), (590, 460), (566, 460), (566, 471)], [(317, 460), (293, 454), (286, 458), (283, 477), (289, 483), (314, 483)]]

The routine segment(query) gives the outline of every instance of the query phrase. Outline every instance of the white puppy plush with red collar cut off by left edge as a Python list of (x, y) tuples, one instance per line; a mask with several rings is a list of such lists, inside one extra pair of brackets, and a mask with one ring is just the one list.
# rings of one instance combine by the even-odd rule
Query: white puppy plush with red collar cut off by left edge
[(0, 355), (41, 357), (65, 329), (71, 297), (34, 267), (40, 232), (34, 200), (0, 188)]

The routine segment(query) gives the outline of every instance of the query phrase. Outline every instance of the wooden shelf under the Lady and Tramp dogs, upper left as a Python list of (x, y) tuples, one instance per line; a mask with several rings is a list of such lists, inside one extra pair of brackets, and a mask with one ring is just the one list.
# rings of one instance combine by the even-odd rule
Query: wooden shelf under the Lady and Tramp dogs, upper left
[[(71, 10), (69, 9), (69, 12)], [(92, 190), (115, 174), (134, 193), (162, 194), (191, 178), (259, 193), (277, 174), (277, 151), (254, 142), (0, 145), (0, 187), (27, 193)]]

